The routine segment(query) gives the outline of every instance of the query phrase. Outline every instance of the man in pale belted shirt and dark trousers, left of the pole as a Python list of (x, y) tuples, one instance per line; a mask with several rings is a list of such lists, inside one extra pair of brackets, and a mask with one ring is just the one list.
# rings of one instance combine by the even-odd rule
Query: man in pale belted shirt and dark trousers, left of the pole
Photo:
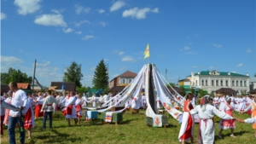
[(41, 108), (41, 112), (44, 111), (44, 118), (43, 118), (43, 129), (46, 128), (46, 120), (49, 117), (49, 129), (52, 128), (52, 112), (54, 112), (53, 103), (59, 105), (59, 102), (56, 101), (55, 97), (51, 95), (51, 91), (47, 91), (47, 96), (44, 100), (43, 107)]

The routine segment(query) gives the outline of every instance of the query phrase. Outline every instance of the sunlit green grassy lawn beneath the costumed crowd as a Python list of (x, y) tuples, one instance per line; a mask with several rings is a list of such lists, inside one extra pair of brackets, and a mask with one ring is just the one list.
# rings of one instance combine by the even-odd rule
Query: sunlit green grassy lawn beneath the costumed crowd
[[(42, 119), (35, 121), (36, 127), (32, 130), (32, 140), (27, 139), (26, 143), (51, 143), (51, 144), (68, 144), (68, 143), (173, 143), (178, 144), (177, 136), (181, 124), (177, 122), (171, 115), (169, 116), (169, 126), (165, 128), (152, 128), (146, 124), (145, 111), (138, 114), (131, 114), (131, 111), (126, 111), (123, 115), (123, 121), (118, 124), (102, 124), (101, 117), (98, 115), (98, 120), (83, 121), (81, 124), (67, 127), (67, 122), (61, 112), (55, 112), (53, 118), (53, 129), (41, 130)], [(168, 113), (165, 113), (166, 115)], [(247, 114), (235, 113), (237, 118), (249, 118)], [(47, 122), (48, 124), (48, 122)], [(198, 124), (195, 124), (195, 137), (197, 137)], [(224, 130), (224, 139), (218, 138), (218, 123), (215, 123), (215, 141), (216, 143), (232, 144), (242, 143), (250, 144), (256, 140), (253, 138), (253, 128), (251, 124), (236, 123), (235, 135), (230, 137), (230, 130)], [(16, 141), (19, 141), (19, 131), (16, 129)], [(1, 143), (9, 143), (7, 127), (4, 127), (4, 135), (1, 135)], [(196, 143), (196, 138), (195, 138)]]

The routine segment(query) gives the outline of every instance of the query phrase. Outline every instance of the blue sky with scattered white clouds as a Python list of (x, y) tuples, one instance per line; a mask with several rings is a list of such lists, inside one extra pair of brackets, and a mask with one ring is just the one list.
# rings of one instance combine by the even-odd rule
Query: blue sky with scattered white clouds
[(1, 72), (9, 67), (49, 86), (72, 61), (92, 86), (103, 59), (109, 79), (139, 72), (148, 59), (167, 81), (191, 72), (256, 73), (254, 0), (3, 0)]

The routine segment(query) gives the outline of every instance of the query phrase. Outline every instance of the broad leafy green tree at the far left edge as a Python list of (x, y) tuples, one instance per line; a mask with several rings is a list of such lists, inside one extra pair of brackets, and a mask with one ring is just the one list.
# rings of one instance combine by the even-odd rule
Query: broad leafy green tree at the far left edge
[(27, 77), (25, 72), (9, 67), (8, 72), (1, 72), (1, 84), (9, 84), (10, 82), (31, 84), (32, 77)]

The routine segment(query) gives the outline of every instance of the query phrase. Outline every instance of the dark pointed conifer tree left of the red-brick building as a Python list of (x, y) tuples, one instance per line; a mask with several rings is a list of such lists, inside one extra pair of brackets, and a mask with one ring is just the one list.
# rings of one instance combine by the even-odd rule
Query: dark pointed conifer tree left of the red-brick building
[(98, 66), (96, 66), (92, 84), (95, 89), (104, 89), (105, 91), (108, 91), (108, 69), (104, 60), (101, 60)]

